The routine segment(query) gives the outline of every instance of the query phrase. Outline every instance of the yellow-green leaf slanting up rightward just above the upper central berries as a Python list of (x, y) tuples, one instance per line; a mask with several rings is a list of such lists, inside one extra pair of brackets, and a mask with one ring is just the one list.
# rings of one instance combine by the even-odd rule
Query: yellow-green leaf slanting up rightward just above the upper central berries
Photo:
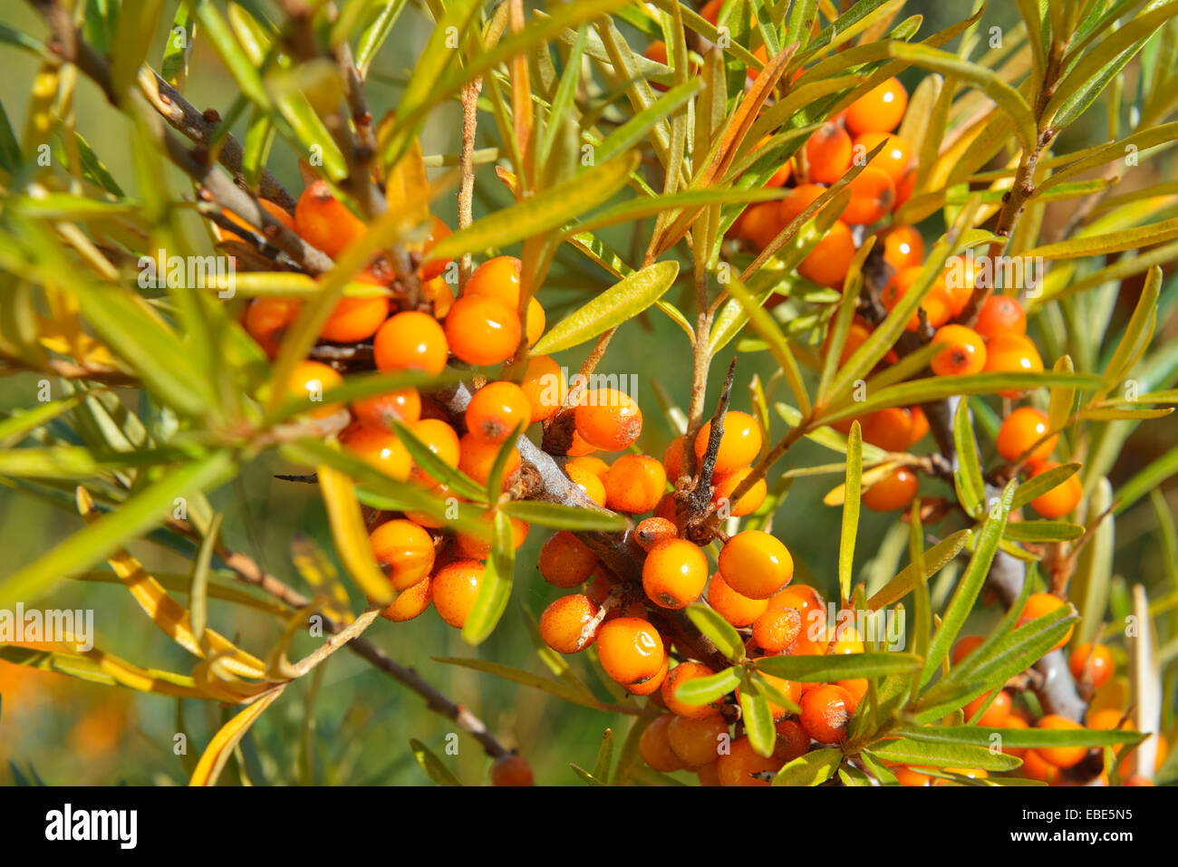
[(432, 254), (437, 259), (450, 259), (463, 253), (481, 253), (560, 229), (621, 190), (638, 159), (636, 153), (617, 157), (477, 219), (439, 241)]

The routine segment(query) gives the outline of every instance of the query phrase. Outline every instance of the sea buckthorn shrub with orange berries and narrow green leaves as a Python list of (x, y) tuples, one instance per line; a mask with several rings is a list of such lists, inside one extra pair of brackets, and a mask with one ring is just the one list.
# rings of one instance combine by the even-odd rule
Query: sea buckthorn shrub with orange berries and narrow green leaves
[(141, 6), (0, 34), (13, 768), (1174, 780), (1178, 5)]

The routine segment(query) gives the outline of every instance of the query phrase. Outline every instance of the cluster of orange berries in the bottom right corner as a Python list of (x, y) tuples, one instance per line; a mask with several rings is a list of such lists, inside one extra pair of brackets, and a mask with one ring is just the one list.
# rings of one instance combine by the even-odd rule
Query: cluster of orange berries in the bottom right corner
[[(1046, 593), (1032, 594), (1019, 615), (1019, 624), (1030, 622), (1038, 617), (1046, 616), (1060, 605), (1066, 604), (1058, 596)], [(1065, 635), (1054, 649), (1061, 648), (1071, 637), (1071, 630)], [(966, 636), (960, 638), (953, 648), (951, 660), (954, 666), (960, 664), (973, 650), (982, 643), (981, 636)], [(1068, 657), (1068, 667), (1076, 680), (1085, 684), (1086, 688), (1099, 690), (1114, 673), (1112, 651), (1105, 644), (1085, 642), (1078, 644)], [(1058, 714), (1043, 714), (1035, 720), (1032, 714), (1018, 707), (1018, 697), (1010, 689), (999, 690), (993, 699), (986, 693), (978, 696), (964, 708), (965, 720), (974, 722), (986, 728), (1000, 729), (1052, 729), (1052, 730), (1080, 730), (1087, 729), (1132, 729), (1125, 710), (1112, 707), (1096, 707), (1088, 709), (1085, 723), (1081, 726), (1074, 720)], [(1160, 768), (1165, 761), (1169, 744), (1165, 737), (1158, 735), (1156, 767)], [(1051, 786), (1072, 785), (1067, 772), (1080, 762), (1085, 761), (1093, 753), (1088, 747), (1039, 747), (1037, 749), (1004, 747), (1007, 755), (1023, 760), (1021, 767), (1014, 773), (1028, 780), (1038, 780)], [(1113, 753), (1118, 754), (1120, 747), (1114, 747)], [(1097, 749), (1099, 753), (1099, 748)], [(901, 786), (929, 786), (938, 785), (939, 779), (921, 773), (927, 768), (893, 766), (892, 773)], [(969, 777), (986, 777), (987, 773), (980, 768), (953, 769), (954, 773)], [(1129, 756), (1121, 768), (1123, 783), (1125, 786), (1152, 786), (1152, 782), (1136, 773), (1134, 756)], [(1100, 779), (1107, 785), (1107, 772), (1100, 772)]]

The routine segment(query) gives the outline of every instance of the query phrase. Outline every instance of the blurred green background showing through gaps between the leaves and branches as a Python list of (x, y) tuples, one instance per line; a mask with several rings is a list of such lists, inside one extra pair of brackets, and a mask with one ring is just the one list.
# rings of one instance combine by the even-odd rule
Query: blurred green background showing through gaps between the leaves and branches
[[(170, 7), (174, 4), (167, 4)], [(133, 6), (133, 4), (131, 5)], [(906, 14), (924, 14), (921, 35), (940, 29), (967, 13), (968, 4), (915, 0)], [(165, 18), (168, 14), (165, 13)], [(4, 24), (44, 35), (44, 28), (28, 6), (18, 0), (0, 0), (0, 20)], [(1015, 20), (1013, 4), (991, 4), (985, 26), (1008, 28)], [(988, 31), (984, 31), (988, 33)], [(369, 100), (379, 118), (396, 105), (398, 82), (404, 80), (429, 33), (426, 18), (413, 5), (402, 16), (393, 34), (380, 52), (370, 75)], [(163, 46), (165, 34), (158, 37)], [(636, 42), (641, 45), (641, 42)], [(949, 47), (953, 47), (951, 44)], [(148, 54), (158, 64), (159, 52)], [(0, 100), (13, 126), (20, 127), (29, 102), (29, 82), (37, 61), (28, 53), (0, 44)], [(234, 97), (234, 86), (224, 72), (205, 40), (198, 37), (191, 59), (186, 97), (198, 108), (206, 106), (226, 111)], [(911, 88), (919, 81), (918, 71), (901, 78)], [(79, 81), (74, 100), (77, 127), (105, 160), (119, 183), (131, 193), (135, 188), (133, 166), (127, 147), (128, 130), (125, 118), (112, 111), (99, 91), (88, 81)], [(454, 153), (458, 144), (457, 105), (438, 112), (423, 138), (425, 153)], [(478, 146), (497, 144), (497, 133), (489, 114), (482, 114)], [(1073, 150), (1079, 141), (1104, 140), (1105, 124), (1099, 110), (1090, 112), (1087, 128), (1078, 126), (1068, 132), (1059, 147)], [(1088, 138), (1086, 138), (1088, 137)], [(287, 188), (300, 188), (293, 152), (280, 140), (276, 141), (271, 168)], [(1129, 186), (1149, 184), (1160, 172), (1172, 172), (1152, 166), (1149, 161), (1138, 170), (1140, 178), (1130, 178)], [(178, 173), (160, 179), (174, 194), (191, 194), (191, 187)], [(476, 218), (488, 213), (497, 203), (505, 201), (502, 186), (491, 166), (479, 166)], [(439, 216), (451, 225), (455, 219), (454, 196), (448, 194), (438, 205)], [(647, 224), (649, 229), (649, 223)], [(194, 231), (200, 231), (193, 226)], [(929, 225), (927, 234), (939, 231)], [(196, 237), (196, 236), (194, 236)], [(644, 243), (644, 241), (643, 241)], [(617, 249), (627, 250), (626, 241)], [(570, 258), (570, 260), (573, 260)], [(580, 266), (576, 273), (558, 265), (550, 285), (541, 291), (548, 310), (549, 323), (581, 303), (585, 293), (609, 285), (601, 271)], [(673, 292), (680, 291), (679, 289)], [(686, 286), (683, 287), (686, 291)], [(1129, 292), (1131, 296), (1132, 293)], [(686, 296), (684, 296), (686, 298)], [(1133, 297), (1121, 299), (1131, 310)], [(684, 300), (683, 309), (689, 309)], [(1125, 310), (1121, 311), (1124, 316)], [(1159, 326), (1173, 336), (1173, 323)], [(713, 365), (714, 401), (720, 376), (727, 369), (732, 348)], [(576, 369), (583, 349), (560, 356), (560, 360)], [(680, 405), (686, 405), (690, 373), (690, 355), (684, 335), (664, 316), (654, 313), (627, 325), (610, 344), (603, 372), (637, 373), (638, 399), (646, 411), (646, 428), (641, 445), (650, 454), (661, 455), (671, 436), (671, 428), (657, 410), (655, 391), (657, 380)], [(160, 359), (166, 363), (166, 359)], [(749, 409), (746, 385), (754, 373), (762, 382), (773, 373), (767, 353), (742, 353), (737, 368), (737, 389), (734, 406)], [(29, 406), (34, 403), (33, 377), (8, 377), (0, 380), (0, 409)], [(128, 398), (135, 406), (135, 398)], [(780, 425), (780, 421), (777, 422)], [(777, 434), (781, 430), (779, 428)], [(1174, 425), (1169, 421), (1145, 424), (1125, 449), (1114, 474), (1124, 479), (1153, 456), (1174, 443)], [(985, 448), (985, 446), (984, 446)], [(992, 456), (992, 449), (988, 456)], [(832, 452), (805, 443), (790, 452), (788, 466), (828, 463)], [(213, 504), (225, 512), (223, 537), (230, 548), (246, 551), (273, 575), (306, 589), (291, 564), (290, 542), (294, 534), (303, 534), (330, 550), (322, 502), (315, 488), (272, 478), (273, 472), (289, 470), (272, 461), (251, 465), (237, 482), (217, 491)], [(296, 470), (297, 471), (297, 470)], [(770, 476), (770, 482), (776, 474)], [(790, 548), (799, 564), (799, 578), (813, 583), (823, 594), (835, 585), (836, 547), (840, 510), (821, 505), (822, 495), (838, 484), (839, 478), (823, 476), (799, 479), (776, 515), (774, 530)], [(945, 494), (935, 484), (926, 483), (929, 494)], [(0, 551), (4, 565), (0, 574), (32, 561), (51, 545), (81, 525), (80, 518), (57, 509), (41, 498), (9, 485), (0, 488)], [(1118, 575), (1130, 581), (1145, 581), (1147, 585), (1162, 580), (1162, 554), (1153, 535), (1154, 525), (1149, 509), (1138, 509), (1118, 522)], [(534, 568), (536, 551), (543, 531), (535, 528), (517, 560), (515, 603), (495, 635), (477, 649), (464, 646), (456, 630), (444, 626), (430, 610), (424, 616), (402, 624), (378, 621), (368, 636), (404, 664), (417, 668), (455, 701), (479, 715), (490, 729), (509, 746), (517, 746), (532, 762), (541, 783), (576, 783), (569, 762), (593, 767), (594, 757), (605, 728), (622, 735), (629, 726), (628, 717), (613, 716), (563, 703), (540, 691), (498, 681), (488, 675), (435, 662), (434, 656), (478, 656), (505, 664), (548, 674), (535, 654), (522, 609), (538, 615), (562, 591), (549, 587)], [(860, 529), (856, 556), (856, 577), (874, 575), (875, 580), (891, 576), (892, 564), (901, 557), (906, 544), (906, 529), (892, 516), (865, 514)], [(187, 561), (176, 551), (145, 541), (133, 547), (133, 554), (152, 570), (187, 571)], [(906, 562), (904, 555), (902, 562)], [(886, 574), (885, 574), (886, 573)], [(940, 582), (940, 591), (948, 587)], [(363, 601), (353, 595), (357, 609)], [(191, 657), (172, 644), (143, 615), (130, 595), (117, 585), (62, 582), (57, 591), (38, 602), (39, 607), (93, 608), (95, 611), (97, 643), (126, 660), (187, 671)], [(979, 611), (979, 628), (997, 616), (997, 610)], [(239, 640), (243, 647), (263, 654), (279, 636), (280, 624), (263, 615), (250, 614), (216, 601), (210, 608), (211, 626)], [(305, 653), (317, 642), (300, 640), (292, 656)], [(571, 658), (574, 670), (590, 683), (601, 696), (605, 687), (583, 657)], [(223, 780), (244, 776), (254, 783), (293, 783), (312, 780), (319, 783), (425, 783), (428, 779), (409, 750), (409, 739), (416, 737), (435, 752), (445, 749), (445, 737), (456, 727), (430, 712), (416, 695), (375, 671), (362, 660), (348, 653), (336, 654), (325, 667), (315, 706), (309, 714), (310, 679), (287, 689), (286, 694), (253, 728), (241, 747), (244, 770), (231, 763)], [(187, 733), (187, 761), (194, 761), (217, 727), (230, 712), (211, 702), (185, 701), (180, 707), (167, 699), (145, 696), (121, 689), (110, 689), (68, 680), (60, 675), (21, 673), (0, 662), (0, 780), (12, 782), (16, 774), (32, 776), (31, 767), (47, 783), (179, 783), (186, 781), (190, 766), (173, 753), (177, 732)], [(309, 739), (309, 740), (307, 740)], [(300, 772), (303, 744), (311, 742), (310, 772)], [(468, 783), (485, 781), (488, 761), (478, 744), (459, 735), (459, 753), (445, 761)], [(11, 770), (13, 762), (19, 772)]]

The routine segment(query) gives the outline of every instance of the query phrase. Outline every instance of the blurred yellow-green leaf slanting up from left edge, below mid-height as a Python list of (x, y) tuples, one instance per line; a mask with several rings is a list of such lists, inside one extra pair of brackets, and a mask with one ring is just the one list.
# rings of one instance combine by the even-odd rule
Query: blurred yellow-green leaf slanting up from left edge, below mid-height
[(214, 452), (179, 466), (128, 497), (114, 511), (59, 543), (0, 582), (0, 605), (29, 601), (66, 575), (106, 560), (127, 542), (161, 523), (177, 498), (216, 488), (231, 477), (233, 458)]

